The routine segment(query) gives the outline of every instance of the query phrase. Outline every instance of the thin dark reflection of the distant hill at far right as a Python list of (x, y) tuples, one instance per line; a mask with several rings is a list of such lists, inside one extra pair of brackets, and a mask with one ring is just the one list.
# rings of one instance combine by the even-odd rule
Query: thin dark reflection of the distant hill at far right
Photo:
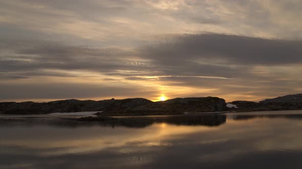
[(248, 120), (254, 118), (287, 118), (287, 119), (302, 119), (302, 115), (234, 115), (233, 120)]

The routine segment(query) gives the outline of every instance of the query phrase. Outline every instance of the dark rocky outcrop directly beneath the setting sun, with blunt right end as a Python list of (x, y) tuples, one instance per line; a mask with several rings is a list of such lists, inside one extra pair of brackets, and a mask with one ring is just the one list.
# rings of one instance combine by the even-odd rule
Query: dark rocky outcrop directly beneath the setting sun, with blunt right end
[(218, 97), (176, 98), (158, 102), (146, 101), (136, 105), (114, 104), (107, 106), (102, 114), (108, 116), (177, 115), (184, 112), (224, 111), (225, 105), (225, 100)]

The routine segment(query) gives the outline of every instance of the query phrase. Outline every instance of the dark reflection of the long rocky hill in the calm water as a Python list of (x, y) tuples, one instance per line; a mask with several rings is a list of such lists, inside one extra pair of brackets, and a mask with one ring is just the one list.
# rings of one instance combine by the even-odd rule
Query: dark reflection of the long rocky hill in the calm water
[(0, 119), (0, 126), (35, 126), (48, 125), (57, 127), (80, 126), (124, 126), (143, 128), (154, 123), (167, 123), (174, 125), (219, 126), (226, 122), (225, 115), (182, 115), (157, 117), (83, 117), (83, 118), (19, 118)]

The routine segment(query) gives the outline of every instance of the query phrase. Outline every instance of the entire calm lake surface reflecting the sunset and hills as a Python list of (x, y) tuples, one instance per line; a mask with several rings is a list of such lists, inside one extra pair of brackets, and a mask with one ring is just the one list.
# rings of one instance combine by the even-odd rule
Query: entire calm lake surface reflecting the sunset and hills
[(5, 122), (0, 168), (302, 168), (299, 110), (135, 119)]

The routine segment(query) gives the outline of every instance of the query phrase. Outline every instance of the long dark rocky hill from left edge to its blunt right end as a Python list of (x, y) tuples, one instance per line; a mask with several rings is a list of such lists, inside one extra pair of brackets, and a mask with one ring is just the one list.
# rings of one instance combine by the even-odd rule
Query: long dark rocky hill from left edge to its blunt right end
[(153, 102), (143, 98), (121, 100), (58, 100), (45, 103), (2, 102), (0, 114), (49, 114), (52, 112), (103, 111), (109, 116), (172, 115), (184, 112), (224, 111), (225, 100), (218, 97), (176, 98)]

